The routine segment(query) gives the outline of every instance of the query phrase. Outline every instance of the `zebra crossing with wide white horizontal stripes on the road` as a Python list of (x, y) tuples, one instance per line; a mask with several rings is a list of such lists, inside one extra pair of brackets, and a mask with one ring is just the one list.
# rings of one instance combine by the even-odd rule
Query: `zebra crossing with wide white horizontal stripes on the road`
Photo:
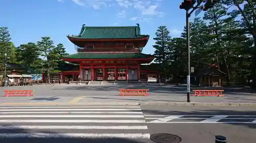
[(140, 106), (0, 107), (0, 138), (150, 138)]

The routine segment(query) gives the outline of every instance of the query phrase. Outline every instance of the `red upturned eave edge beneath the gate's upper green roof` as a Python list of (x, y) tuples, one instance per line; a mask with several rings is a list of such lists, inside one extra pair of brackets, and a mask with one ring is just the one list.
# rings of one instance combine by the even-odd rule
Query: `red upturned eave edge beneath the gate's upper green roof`
[(121, 41), (121, 40), (127, 40), (127, 41), (140, 41), (140, 40), (147, 40), (150, 38), (149, 35), (146, 35), (143, 38), (123, 38), (123, 39), (80, 39), (80, 38), (74, 38), (67, 36), (69, 40), (72, 41)]

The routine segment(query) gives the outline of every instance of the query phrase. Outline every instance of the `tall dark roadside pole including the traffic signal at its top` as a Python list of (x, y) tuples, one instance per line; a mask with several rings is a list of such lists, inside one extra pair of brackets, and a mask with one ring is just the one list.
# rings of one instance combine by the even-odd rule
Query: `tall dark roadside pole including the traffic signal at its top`
[[(201, 3), (205, 2), (205, 5), (200, 7)], [(187, 48), (187, 102), (190, 102), (190, 46), (189, 46), (189, 21), (188, 18), (199, 7), (206, 11), (212, 8), (219, 0), (183, 0), (180, 5), (180, 9), (186, 10), (186, 48)], [(197, 5), (194, 7), (194, 5)], [(189, 10), (192, 9), (190, 12)]]

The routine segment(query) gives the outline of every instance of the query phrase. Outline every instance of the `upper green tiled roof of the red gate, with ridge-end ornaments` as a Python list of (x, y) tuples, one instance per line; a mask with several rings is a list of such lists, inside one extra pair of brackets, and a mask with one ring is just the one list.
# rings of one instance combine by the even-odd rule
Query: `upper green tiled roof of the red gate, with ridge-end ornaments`
[(140, 34), (140, 26), (86, 26), (82, 25), (79, 35), (71, 36), (69, 38), (76, 39), (138, 39), (149, 37), (148, 35)]

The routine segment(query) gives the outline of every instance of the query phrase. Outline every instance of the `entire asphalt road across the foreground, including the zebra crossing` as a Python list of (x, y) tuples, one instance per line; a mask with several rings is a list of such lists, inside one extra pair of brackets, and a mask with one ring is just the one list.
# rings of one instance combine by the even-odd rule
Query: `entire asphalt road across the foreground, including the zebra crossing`
[(254, 143), (254, 107), (0, 106), (0, 142), (148, 142), (156, 133), (183, 143)]

